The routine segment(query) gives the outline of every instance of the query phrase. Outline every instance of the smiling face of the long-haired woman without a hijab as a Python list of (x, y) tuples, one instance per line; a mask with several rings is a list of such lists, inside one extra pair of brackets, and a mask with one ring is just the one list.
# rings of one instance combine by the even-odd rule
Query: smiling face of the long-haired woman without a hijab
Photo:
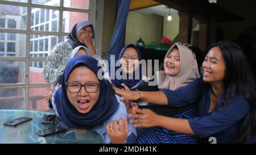
[(210, 49), (207, 56), (205, 56), (202, 66), (205, 82), (213, 83), (223, 81), (225, 77), (225, 62), (220, 48), (214, 47)]

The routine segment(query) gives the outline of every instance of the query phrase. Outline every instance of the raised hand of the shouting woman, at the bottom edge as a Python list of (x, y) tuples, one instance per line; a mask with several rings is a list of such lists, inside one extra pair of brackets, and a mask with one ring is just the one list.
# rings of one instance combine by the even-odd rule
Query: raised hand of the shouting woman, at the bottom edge
[[(123, 124), (124, 123), (124, 124)], [(119, 125), (119, 128), (118, 128)], [(123, 144), (128, 136), (128, 122), (125, 118), (123, 121), (120, 118), (119, 122), (114, 120), (114, 122), (106, 125), (106, 132), (108, 133), (109, 139), (113, 144)]]

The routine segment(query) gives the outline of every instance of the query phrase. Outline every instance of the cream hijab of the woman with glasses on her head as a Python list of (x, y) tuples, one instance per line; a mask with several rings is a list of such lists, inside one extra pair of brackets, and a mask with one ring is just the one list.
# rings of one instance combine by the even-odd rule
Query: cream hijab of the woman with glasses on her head
[(160, 70), (156, 73), (158, 76), (158, 88), (159, 89), (170, 89), (175, 90), (181, 86), (187, 85), (189, 82), (193, 81), (196, 78), (200, 77), (197, 67), (197, 61), (195, 54), (191, 49), (183, 47), (182, 45), (174, 44), (166, 53), (164, 60), (171, 53), (172, 49), (175, 47), (178, 48), (180, 54), (180, 70), (176, 76), (171, 77)]

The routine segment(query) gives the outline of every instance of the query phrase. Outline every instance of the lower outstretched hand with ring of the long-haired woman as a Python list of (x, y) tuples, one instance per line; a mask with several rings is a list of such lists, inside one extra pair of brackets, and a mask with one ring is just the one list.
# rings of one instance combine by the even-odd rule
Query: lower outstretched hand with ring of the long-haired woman
[(130, 114), (129, 116), (135, 118), (130, 120), (130, 123), (134, 123), (134, 127), (156, 127), (158, 126), (158, 116), (154, 111), (149, 109), (135, 110), (137, 114)]

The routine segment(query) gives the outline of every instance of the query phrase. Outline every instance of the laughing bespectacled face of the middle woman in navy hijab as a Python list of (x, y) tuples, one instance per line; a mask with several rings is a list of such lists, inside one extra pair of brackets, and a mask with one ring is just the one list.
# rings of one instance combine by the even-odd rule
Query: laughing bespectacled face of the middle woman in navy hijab
[(125, 52), (123, 52), (120, 63), (124, 73), (134, 73), (139, 66), (139, 56), (136, 49), (131, 47), (126, 48)]

